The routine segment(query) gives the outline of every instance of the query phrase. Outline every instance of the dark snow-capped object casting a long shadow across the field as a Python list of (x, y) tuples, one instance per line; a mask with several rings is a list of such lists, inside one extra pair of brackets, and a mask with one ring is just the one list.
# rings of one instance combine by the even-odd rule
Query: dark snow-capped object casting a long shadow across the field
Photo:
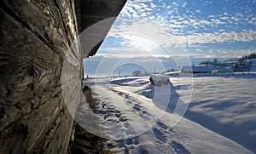
[(170, 83), (169, 76), (164, 74), (152, 74), (150, 77), (150, 82), (154, 86), (167, 85)]

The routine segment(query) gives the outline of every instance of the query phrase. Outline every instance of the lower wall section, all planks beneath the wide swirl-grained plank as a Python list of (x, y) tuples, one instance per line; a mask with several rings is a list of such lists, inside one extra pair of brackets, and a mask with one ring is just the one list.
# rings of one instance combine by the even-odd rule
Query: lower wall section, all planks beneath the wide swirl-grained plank
[(73, 117), (58, 94), (5, 128), (0, 134), (0, 150), (3, 153), (65, 153), (72, 125)]

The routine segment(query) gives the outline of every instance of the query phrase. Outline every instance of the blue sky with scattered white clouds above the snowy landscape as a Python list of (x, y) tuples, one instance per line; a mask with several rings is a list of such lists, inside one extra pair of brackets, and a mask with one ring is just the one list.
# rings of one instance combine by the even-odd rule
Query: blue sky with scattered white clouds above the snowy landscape
[(253, 52), (256, 0), (128, 0), (85, 65), (97, 68), (103, 59), (103, 66), (131, 63), (162, 71)]

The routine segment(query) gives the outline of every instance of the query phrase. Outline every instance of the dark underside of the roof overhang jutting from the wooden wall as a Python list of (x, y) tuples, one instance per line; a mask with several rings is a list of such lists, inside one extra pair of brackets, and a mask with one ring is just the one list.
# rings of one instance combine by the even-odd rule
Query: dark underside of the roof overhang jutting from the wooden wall
[(77, 0), (83, 58), (96, 54), (127, 0)]

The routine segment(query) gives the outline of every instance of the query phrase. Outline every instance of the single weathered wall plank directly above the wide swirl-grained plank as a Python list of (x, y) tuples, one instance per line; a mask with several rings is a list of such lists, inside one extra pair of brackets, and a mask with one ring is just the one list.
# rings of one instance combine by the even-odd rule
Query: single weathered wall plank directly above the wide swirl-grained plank
[[(55, 1), (5, 0), (5, 8), (56, 54), (65, 56), (67, 36)], [(64, 49), (66, 48), (66, 50)]]

